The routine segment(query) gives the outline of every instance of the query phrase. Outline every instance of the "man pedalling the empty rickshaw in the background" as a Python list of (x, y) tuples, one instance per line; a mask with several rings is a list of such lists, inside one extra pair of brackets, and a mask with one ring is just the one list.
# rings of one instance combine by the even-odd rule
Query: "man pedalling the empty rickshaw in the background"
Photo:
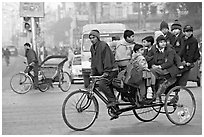
[(27, 63), (29, 65), (28, 73), (34, 71), (34, 89), (38, 89), (38, 58), (36, 52), (31, 48), (30, 43), (24, 44), (25, 57), (27, 58)]

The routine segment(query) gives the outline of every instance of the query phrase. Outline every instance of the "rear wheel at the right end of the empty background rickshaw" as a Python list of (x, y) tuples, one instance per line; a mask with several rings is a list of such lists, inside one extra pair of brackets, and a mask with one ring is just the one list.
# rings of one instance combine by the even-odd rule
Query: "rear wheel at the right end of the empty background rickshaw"
[(71, 87), (71, 77), (67, 72), (63, 72), (60, 75), (59, 87), (63, 92), (67, 92)]

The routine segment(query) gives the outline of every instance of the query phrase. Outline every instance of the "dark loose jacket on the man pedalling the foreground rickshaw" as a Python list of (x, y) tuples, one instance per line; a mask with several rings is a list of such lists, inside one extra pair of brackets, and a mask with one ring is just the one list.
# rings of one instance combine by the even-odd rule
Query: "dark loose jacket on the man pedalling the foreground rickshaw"
[(117, 68), (113, 52), (106, 42), (98, 41), (95, 45), (91, 45), (90, 51), (93, 75), (102, 75)]

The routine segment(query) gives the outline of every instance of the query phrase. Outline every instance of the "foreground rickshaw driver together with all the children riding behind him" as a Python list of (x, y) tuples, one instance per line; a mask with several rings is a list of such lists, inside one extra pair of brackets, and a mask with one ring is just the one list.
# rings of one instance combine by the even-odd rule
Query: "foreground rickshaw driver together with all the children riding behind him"
[[(129, 78), (125, 77), (124, 81), (127, 83), (140, 79), (145, 81), (139, 84), (141, 98), (153, 100), (156, 94), (164, 93), (166, 87), (177, 81), (178, 85), (186, 86), (189, 71), (200, 57), (193, 27), (186, 25), (182, 28), (177, 20), (171, 25), (171, 32), (168, 24), (162, 21), (160, 31), (155, 32), (155, 37), (143, 38), (142, 44), (134, 42), (132, 30), (125, 30), (121, 40), (114, 37), (113, 40), (117, 41), (114, 41), (113, 45), (101, 41), (98, 30), (92, 30), (89, 39), (92, 43), (91, 75), (103, 77), (99, 81), (99, 88), (108, 99), (107, 107), (114, 106), (117, 109), (111, 82), (120, 76), (121, 72), (130, 74)], [(128, 70), (131, 70), (130, 73)], [(178, 74), (182, 74), (179, 80), (176, 77)], [(155, 89), (156, 81), (161, 76), (166, 80)], [(122, 92), (121, 99), (127, 101)]]

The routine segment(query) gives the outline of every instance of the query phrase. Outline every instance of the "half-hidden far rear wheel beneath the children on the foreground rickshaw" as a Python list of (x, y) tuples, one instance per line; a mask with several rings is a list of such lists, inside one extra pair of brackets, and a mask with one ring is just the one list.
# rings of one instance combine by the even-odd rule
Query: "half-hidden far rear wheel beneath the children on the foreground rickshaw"
[(159, 103), (162, 103), (161, 98), (158, 98), (157, 103), (149, 104), (148, 106), (143, 108), (134, 109), (133, 113), (140, 121), (150, 122), (154, 120), (161, 111), (162, 105), (159, 105)]

